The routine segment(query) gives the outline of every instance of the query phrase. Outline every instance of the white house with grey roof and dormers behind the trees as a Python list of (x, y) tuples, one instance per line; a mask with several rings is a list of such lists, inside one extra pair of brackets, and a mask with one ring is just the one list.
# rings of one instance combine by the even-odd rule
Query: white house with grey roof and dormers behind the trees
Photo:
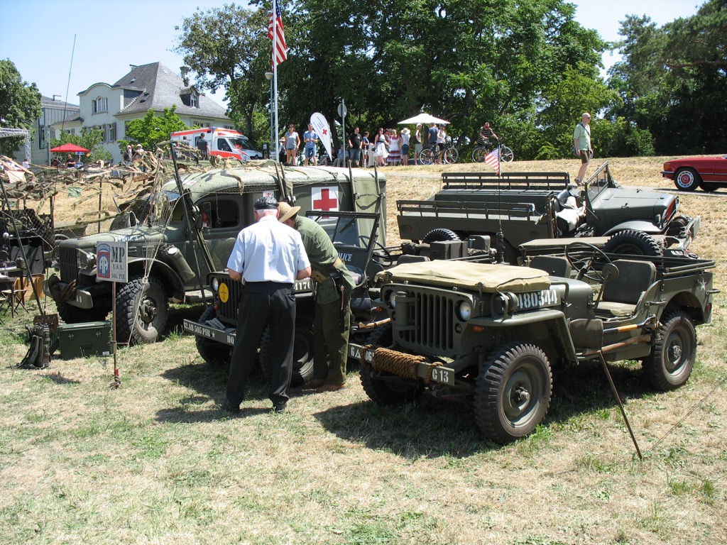
[[(225, 107), (196, 89), (185, 86), (182, 78), (159, 62), (132, 66), (132, 71), (115, 84), (97, 83), (79, 93), (80, 112), (64, 121), (64, 129), (76, 134), (81, 129), (97, 127), (103, 131), (103, 147), (111, 152), (113, 161), (121, 161), (118, 140), (126, 136), (126, 124), (142, 118), (148, 110), (158, 115), (164, 108), (177, 106), (175, 112), (190, 127), (220, 126), (234, 129), (225, 116)], [(60, 123), (53, 125), (60, 130)]]

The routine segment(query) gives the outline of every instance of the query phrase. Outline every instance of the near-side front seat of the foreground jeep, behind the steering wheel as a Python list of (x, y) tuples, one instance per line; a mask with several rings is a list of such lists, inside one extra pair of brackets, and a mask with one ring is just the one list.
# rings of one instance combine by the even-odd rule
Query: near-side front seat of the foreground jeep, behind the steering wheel
[(603, 283), (603, 297), (596, 310), (611, 316), (630, 316), (643, 293), (656, 280), (656, 266), (650, 261), (616, 259), (619, 276)]

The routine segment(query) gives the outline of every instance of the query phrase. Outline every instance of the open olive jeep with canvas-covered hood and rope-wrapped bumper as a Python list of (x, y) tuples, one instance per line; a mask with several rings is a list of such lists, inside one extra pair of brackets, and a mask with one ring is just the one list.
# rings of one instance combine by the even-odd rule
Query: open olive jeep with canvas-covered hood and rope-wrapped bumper
[(718, 293), (714, 262), (574, 241), (529, 265), (425, 261), (379, 273), (390, 326), (350, 344), (371, 400), (465, 397), (483, 434), (508, 443), (545, 419), (555, 366), (641, 360), (656, 389), (687, 381), (695, 327), (710, 322)]

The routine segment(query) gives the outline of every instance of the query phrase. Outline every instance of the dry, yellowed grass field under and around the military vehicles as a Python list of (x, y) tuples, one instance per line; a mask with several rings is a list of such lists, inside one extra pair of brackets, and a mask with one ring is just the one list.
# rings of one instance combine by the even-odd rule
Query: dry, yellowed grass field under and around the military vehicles
[[(672, 191), (662, 159), (609, 164), (624, 186)], [(390, 244), (395, 200), (434, 193), (441, 168), (477, 167), (385, 169)], [(572, 176), (577, 163), (503, 169)], [(702, 217), (692, 249), (717, 260), (724, 288), (727, 190), (680, 198)], [(684, 387), (656, 393), (638, 363), (611, 366), (639, 461), (595, 363), (555, 369), (545, 424), (502, 447), (463, 403), (374, 405), (356, 370), (348, 389), (296, 395), (282, 415), (257, 377), (230, 417), (225, 371), (180, 333), (200, 307), (174, 308), (164, 342), (121, 350), (119, 389), (113, 358), (20, 370), (31, 304), (0, 316), (0, 544), (727, 543), (724, 294), (715, 307)]]

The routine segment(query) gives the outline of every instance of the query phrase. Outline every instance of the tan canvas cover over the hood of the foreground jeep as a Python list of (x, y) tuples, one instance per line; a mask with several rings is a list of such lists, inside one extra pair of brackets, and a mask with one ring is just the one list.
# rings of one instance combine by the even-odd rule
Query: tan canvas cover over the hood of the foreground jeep
[(409, 280), (429, 286), (464, 288), (484, 293), (512, 291), (521, 294), (550, 287), (550, 278), (543, 270), (465, 261), (405, 263), (382, 271), (376, 279), (387, 282)]

